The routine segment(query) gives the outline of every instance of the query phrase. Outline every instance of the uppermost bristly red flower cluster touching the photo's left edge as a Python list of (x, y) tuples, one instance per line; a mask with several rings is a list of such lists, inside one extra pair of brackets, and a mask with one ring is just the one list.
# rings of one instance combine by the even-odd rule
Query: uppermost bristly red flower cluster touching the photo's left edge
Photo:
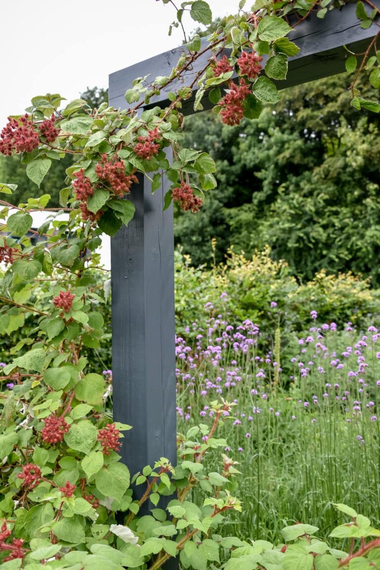
[(12, 156), (12, 152), (31, 152), (39, 143), (38, 133), (34, 130), (33, 123), (26, 113), (23, 117), (12, 119), (8, 117), (8, 123), (0, 133), (0, 152), (5, 156)]

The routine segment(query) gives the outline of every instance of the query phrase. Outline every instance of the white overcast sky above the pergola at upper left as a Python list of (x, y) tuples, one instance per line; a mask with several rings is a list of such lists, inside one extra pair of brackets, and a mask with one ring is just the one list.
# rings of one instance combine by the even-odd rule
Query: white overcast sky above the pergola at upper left
[[(238, 11), (238, 0), (208, 2), (213, 17)], [(156, 0), (0, 0), (0, 129), (35, 95), (75, 99), (87, 86), (107, 87), (109, 73), (178, 46), (182, 32), (167, 35), (174, 17)], [(187, 32), (196, 26), (185, 19)]]

